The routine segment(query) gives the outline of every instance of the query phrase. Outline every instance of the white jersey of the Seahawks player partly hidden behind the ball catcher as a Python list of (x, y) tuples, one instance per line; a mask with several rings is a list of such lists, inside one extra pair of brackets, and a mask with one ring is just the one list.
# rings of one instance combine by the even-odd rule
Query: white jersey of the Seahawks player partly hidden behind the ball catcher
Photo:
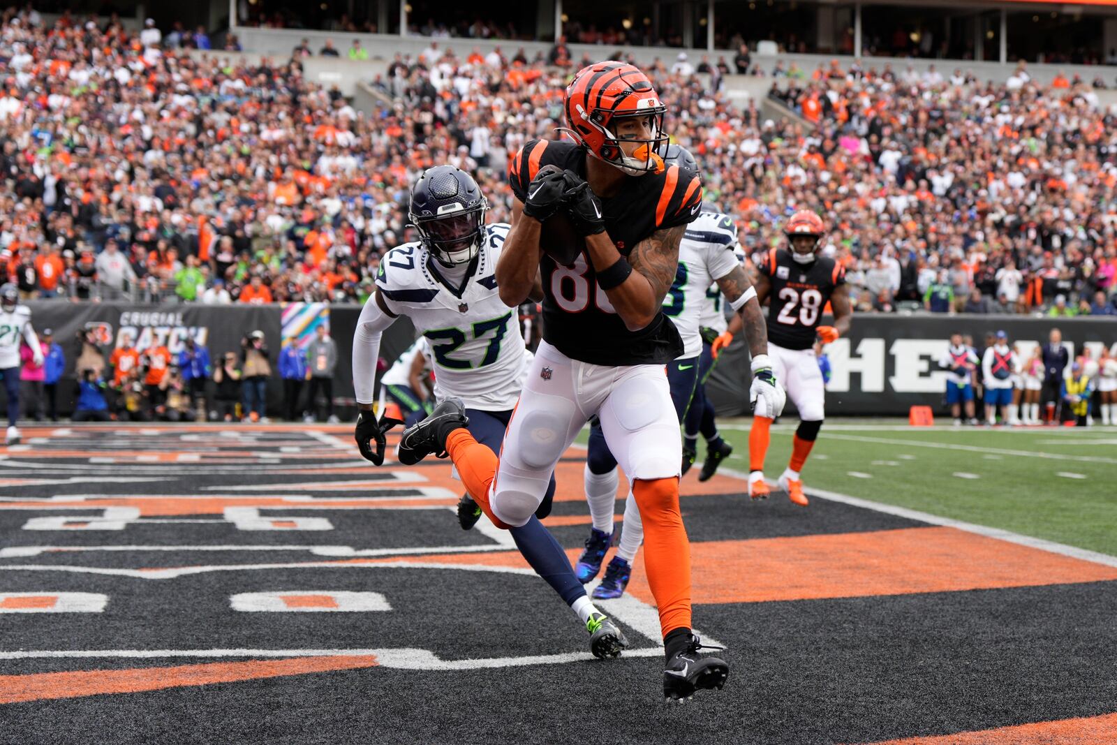
[(706, 290), (712, 281), (720, 279), (737, 266), (737, 257), (733, 252), (736, 246), (737, 227), (725, 214), (703, 212), (687, 226), (679, 243), (675, 284), (663, 298), (663, 314), (675, 322), (682, 336), (682, 355), (679, 359), (697, 356), (701, 352), (698, 327), (703, 306), (707, 304)]

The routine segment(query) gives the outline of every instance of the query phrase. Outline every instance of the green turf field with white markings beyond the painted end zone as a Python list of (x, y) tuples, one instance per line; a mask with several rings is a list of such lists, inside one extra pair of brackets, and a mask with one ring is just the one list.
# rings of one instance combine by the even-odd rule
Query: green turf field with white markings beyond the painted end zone
[[(795, 423), (772, 428), (770, 480), (787, 465)], [(734, 446), (727, 466), (747, 471), (748, 420), (719, 426)], [(699, 442), (699, 465), (703, 457)], [(1117, 429), (908, 429), (833, 420), (802, 474), (808, 489), (1117, 555)]]

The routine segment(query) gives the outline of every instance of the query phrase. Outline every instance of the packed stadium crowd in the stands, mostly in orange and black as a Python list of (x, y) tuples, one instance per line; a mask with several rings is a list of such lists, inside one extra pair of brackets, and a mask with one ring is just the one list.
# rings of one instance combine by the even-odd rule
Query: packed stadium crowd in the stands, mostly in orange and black
[[(422, 169), (476, 172), (489, 219), (508, 219), (509, 155), (557, 136), (580, 64), (564, 44), (461, 58), (432, 39), (391, 63), (376, 85), (394, 104), (365, 115), (298, 59), (195, 59), (150, 27), (9, 11), (0, 262), (22, 296), (362, 302)], [(731, 64), (648, 71), (750, 254), (809, 208), (859, 311), (1117, 312), (1117, 117), (1083, 82), (776, 64), (756, 71), (801, 116), (776, 122), (719, 90)]]

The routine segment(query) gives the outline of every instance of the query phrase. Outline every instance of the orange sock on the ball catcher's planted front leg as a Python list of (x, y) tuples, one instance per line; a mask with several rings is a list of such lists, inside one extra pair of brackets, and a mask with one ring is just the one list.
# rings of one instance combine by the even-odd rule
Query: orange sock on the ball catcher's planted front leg
[(675, 629), (690, 628), (690, 542), (679, 512), (679, 479), (638, 480), (632, 495), (643, 520), (648, 584), (666, 637)]

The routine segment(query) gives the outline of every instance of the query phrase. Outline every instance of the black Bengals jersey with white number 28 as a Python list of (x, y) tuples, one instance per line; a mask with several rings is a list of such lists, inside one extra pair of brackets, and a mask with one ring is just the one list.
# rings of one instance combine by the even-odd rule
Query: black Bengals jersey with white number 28
[(811, 264), (799, 264), (787, 251), (773, 248), (756, 270), (772, 283), (768, 341), (785, 350), (811, 348), (830, 295), (846, 284), (846, 269), (818, 255)]

